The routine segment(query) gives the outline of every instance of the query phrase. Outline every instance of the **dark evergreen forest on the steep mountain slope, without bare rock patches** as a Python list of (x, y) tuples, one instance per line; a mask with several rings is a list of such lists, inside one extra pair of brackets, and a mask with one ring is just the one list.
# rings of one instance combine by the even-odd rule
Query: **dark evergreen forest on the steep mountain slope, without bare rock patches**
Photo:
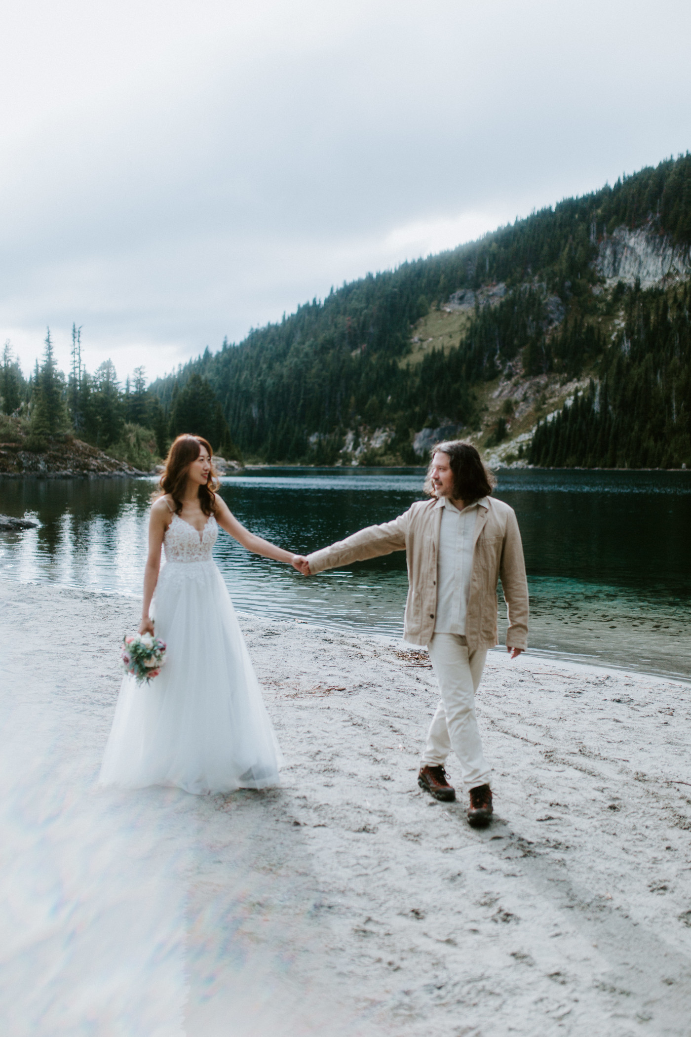
[[(649, 290), (626, 275), (635, 251), (626, 233), (636, 228), (636, 247), (647, 249), (642, 273), (646, 262), (653, 272), (643, 282), (657, 281)], [(558, 386), (587, 374), (602, 388), (574, 407), (581, 422), (587, 405), (602, 415), (601, 446), (565, 453), (553, 445), (567, 407), (541, 424), (535, 464), (691, 464), (688, 295), (674, 289), (691, 265), (689, 245), (687, 153), (478, 242), (332, 289), (151, 389), (173, 413), (174, 394), (193, 374), (207, 380), (233, 439), (254, 458), (333, 464), (369, 437), (380, 445), (361, 449), (361, 461), (392, 463), (415, 459), (426, 426), (464, 426), (485, 444), (511, 437), (525, 380)], [(612, 277), (620, 268), (622, 278)], [(430, 308), (463, 310), (465, 324), (451, 348), (413, 356)], [(496, 420), (488, 426), (488, 383), (510, 380), (515, 405), (498, 417), (490, 407)], [(544, 386), (542, 396), (544, 411)], [(653, 448), (662, 436), (664, 449)]]

